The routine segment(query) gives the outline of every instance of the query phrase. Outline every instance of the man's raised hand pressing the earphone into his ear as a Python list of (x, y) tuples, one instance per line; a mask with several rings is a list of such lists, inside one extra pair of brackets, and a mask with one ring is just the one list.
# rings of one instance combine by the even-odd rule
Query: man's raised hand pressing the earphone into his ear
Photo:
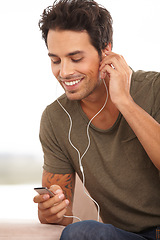
[(105, 56), (100, 63), (101, 78), (109, 77), (109, 93), (112, 102), (119, 105), (130, 99), (132, 70), (123, 56), (104, 50)]

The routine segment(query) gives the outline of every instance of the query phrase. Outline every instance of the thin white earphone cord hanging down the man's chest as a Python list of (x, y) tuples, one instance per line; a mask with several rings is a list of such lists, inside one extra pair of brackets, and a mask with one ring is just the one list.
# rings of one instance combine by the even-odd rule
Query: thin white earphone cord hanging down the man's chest
[[(92, 119), (89, 121), (88, 125), (87, 125), (87, 137), (88, 137), (88, 146), (86, 148), (86, 150), (84, 151), (84, 153), (82, 154), (82, 156), (80, 156), (80, 152), (79, 150), (73, 145), (72, 141), (71, 141), (71, 130), (72, 130), (72, 118), (70, 116), (70, 114), (67, 112), (67, 110), (63, 107), (63, 105), (59, 102), (59, 100), (57, 99), (57, 102), (59, 103), (59, 105), (61, 106), (61, 108), (65, 111), (65, 113), (68, 115), (69, 117), (69, 120), (70, 120), (70, 127), (69, 127), (69, 132), (68, 132), (68, 140), (69, 140), (69, 143), (71, 144), (71, 146), (77, 151), (78, 153), (78, 159), (79, 159), (79, 166), (80, 166), (80, 170), (82, 172), (82, 176), (83, 176), (83, 191), (84, 193), (96, 204), (97, 206), (97, 211), (98, 211), (98, 217), (97, 217), (97, 221), (99, 222), (99, 215), (100, 215), (100, 207), (99, 207), (99, 204), (85, 191), (85, 176), (84, 176), (84, 171), (83, 171), (83, 166), (82, 166), (82, 159), (83, 157), (86, 155), (89, 147), (90, 147), (90, 136), (89, 136), (89, 126), (91, 124), (91, 122), (93, 121), (94, 118), (96, 118), (101, 112), (102, 110), (105, 108), (106, 104), (107, 104), (107, 101), (108, 101), (108, 89), (107, 89), (107, 85), (103, 79), (103, 83), (104, 83), (104, 86), (106, 88), (106, 93), (107, 93), (107, 96), (106, 96), (106, 100), (105, 100), (105, 103), (103, 105), (103, 107), (92, 117)], [(80, 218), (76, 217), (76, 216), (66, 216), (64, 215), (64, 217), (69, 217), (69, 218), (76, 218), (78, 219), (79, 221), (81, 221)]]

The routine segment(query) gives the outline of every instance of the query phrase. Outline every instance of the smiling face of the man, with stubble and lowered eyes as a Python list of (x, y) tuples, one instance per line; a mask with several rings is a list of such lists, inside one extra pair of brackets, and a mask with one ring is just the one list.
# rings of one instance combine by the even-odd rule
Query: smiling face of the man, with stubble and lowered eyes
[(87, 32), (49, 30), (48, 51), (54, 76), (70, 100), (92, 95), (100, 84), (97, 50)]

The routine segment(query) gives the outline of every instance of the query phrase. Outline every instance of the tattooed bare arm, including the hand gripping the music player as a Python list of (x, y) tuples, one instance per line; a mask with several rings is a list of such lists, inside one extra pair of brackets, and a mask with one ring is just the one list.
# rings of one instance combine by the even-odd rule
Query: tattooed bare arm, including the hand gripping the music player
[(42, 186), (49, 188), (55, 196), (37, 195), (34, 202), (38, 203), (38, 217), (41, 223), (52, 223), (67, 226), (72, 223), (72, 203), (75, 185), (75, 174), (52, 174), (43, 171)]

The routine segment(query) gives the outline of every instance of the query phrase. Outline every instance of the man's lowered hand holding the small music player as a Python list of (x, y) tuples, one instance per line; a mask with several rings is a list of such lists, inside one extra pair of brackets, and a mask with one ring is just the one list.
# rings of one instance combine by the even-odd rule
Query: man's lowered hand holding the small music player
[(48, 194), (44, 194), (37, 195), (33, 199), (35, 203), (38, 203), (38, 215), (41, 223), (68, 225), (64, 219), (64, 215), (70, 212), (67, 209), (69, 200), (65, 199), (60, 186), (52, 185), (49, 190), (54, 193), (54, 197), (50, 198)]

